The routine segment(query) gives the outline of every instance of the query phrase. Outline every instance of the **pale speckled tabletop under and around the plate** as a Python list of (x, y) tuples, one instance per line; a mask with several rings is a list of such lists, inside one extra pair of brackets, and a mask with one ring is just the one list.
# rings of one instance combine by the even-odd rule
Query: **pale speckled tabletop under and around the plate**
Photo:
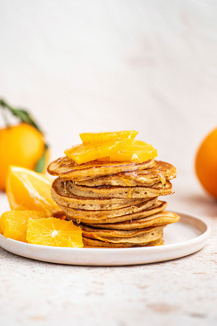
[[(216, 325), (217, 203), (196, 181), (187, 191), (174, 187), (169, 208), (198, 214), (211, 225), (203, 249), (156, 264), (85, 267), (0, 248), (1, 325)], [(5, 195), (0, 202), (7, 210)]]

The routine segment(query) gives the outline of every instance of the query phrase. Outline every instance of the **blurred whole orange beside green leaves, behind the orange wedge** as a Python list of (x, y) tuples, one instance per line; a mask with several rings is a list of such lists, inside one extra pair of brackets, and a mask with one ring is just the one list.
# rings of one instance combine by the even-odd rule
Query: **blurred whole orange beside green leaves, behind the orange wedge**
[(31, 125), (20, 123), (0, 129), (0, 189), (5, 190), (9, 165), (34, 170), (44, 151), (44, 136)]

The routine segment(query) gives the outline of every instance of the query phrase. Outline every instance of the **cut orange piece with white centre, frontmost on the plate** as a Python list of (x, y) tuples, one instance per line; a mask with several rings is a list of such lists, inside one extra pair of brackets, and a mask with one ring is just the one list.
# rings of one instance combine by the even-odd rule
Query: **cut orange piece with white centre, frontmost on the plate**
[(26, 240), (31, 244), (82, 248), (82, 230), (72, 221), (54, 217), (29, 219)]

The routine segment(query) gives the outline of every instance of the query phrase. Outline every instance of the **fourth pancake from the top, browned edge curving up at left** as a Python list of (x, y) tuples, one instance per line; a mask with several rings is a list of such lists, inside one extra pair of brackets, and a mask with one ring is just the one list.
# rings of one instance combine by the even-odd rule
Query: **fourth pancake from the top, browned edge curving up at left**
[(144, 201), (143, 198), (84, 198), (73, 195), (67, 191), (64, 193), (64, 182), (61, 178), (54, 180), (51, 187), (51, 196), (61, 207), (87, 210), (112, 210), (137, 205)]

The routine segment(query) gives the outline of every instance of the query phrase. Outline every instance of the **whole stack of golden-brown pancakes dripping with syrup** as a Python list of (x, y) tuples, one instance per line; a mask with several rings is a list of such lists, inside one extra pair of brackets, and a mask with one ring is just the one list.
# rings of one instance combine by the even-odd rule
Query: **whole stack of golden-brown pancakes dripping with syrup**
[(76, 165), (68, 157), (47, 168), (58, 176), (53, 200), (68, 220), (82, 228), (83, 242), (100, 247), (135, 247), (163, 243), (163, 228), (179, 216), (164, 211), (158, 196), (172, 193), (176, 169), (150, 159), (143, 163), (97, 160)]

